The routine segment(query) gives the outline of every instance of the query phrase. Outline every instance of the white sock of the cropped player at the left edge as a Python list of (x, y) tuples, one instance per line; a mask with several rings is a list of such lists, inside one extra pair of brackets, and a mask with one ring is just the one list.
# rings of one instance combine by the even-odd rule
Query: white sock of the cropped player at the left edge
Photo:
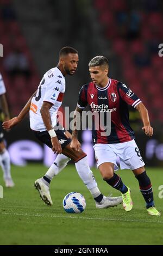
[(10, 156), (7, 149), (4, 149), (3, 153), (0, 154), (0, 165), (3, 170), (3, 178), (11, 179)]

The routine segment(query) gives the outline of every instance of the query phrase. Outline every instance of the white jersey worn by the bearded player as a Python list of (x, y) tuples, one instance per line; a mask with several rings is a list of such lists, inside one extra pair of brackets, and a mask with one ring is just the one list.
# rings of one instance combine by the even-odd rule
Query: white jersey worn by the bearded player
[(43, 101), (50, 102), (52, 107), (49, 109), (53, 127), (57, 124), (57, 112), (62, 104), (65, 93), (65, 77), (61, 71), (55, 67), (43, 75), (37, 89), (36, 96), (32, 98), (30, 105), (30, 128), (35, 131), (45, 131), (40, 109)]

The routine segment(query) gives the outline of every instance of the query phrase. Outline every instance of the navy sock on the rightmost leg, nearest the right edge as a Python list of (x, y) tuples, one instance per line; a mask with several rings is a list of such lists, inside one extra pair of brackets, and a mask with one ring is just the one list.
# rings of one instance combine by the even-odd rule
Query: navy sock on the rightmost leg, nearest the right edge
[(152, 184), (146, 171), (135, 176), (135, 178), (139, 181), (140, 192), (146, 201), (146, 208), (154, 206)]

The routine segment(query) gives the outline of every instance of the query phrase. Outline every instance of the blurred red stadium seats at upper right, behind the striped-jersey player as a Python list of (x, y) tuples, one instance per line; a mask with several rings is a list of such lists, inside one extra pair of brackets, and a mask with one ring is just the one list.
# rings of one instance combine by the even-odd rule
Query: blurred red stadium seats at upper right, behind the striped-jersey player
[[(136, 7), (135, 7), (136, 5)], [(105, 28), (106, 40), (121, 62), (121, 80), (147, 103), (152, 121), (163, 122), (162, 58), (158, 45), (163, 38), (161, 0), (124, 1), (96, 0), (99, 21)], [(150, 102), (150, 103), (149, 103)], [(157, 112), (159, 114), (152, 114)]]

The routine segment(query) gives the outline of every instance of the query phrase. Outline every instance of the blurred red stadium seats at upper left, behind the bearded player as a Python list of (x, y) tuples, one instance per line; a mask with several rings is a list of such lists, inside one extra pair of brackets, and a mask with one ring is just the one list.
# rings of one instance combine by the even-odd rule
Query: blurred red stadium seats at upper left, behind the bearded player
[[(0, 38), (1, 44), (4, 46), (4, 58), (3, 62), (0, 62), (0, 70), (4, 78), (5, 86), (7, 87), (11, 114), (15, 115), (20, 112), (21, 108), (27, 102), (28, 97), (36, 90), (40, 77), (37, 74), (33, 58), (28, 49), (26, 38), (24, 38), (21, 32), (17, 15), (12, 6), (12, 1), (1, 0), (0, 4)], [(27, 58), (30, 66), (29, 77), (15, 73), (14, 78), (12, 78), (5, 69), (4, 61), (7, 56), (15, 53), (15, 49), (19, 49), (24, 57)]]

